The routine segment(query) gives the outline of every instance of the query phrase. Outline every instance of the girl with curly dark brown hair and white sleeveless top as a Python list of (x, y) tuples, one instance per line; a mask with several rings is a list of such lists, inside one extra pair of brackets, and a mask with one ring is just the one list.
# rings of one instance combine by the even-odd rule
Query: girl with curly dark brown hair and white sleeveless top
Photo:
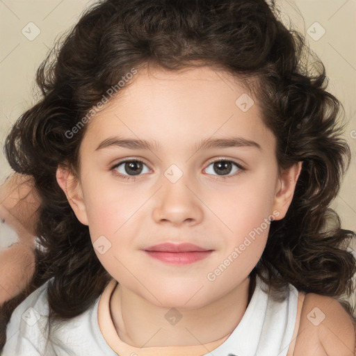
[(41, 203), (3, 355), (353, 355), (339, 102), (273, 10), (106, 0), (44, 61), (5, 145)]

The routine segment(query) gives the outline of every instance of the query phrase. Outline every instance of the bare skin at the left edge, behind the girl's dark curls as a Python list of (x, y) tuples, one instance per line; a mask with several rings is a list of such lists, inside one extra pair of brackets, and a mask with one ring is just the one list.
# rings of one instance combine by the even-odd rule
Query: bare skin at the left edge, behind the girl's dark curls
[(22, 291), (33, 275), (39, 205), (31, 177), (15, 173), (0, 187), (1, 222), (19, 237), (17, 243), (0, 250), (0, 305)]

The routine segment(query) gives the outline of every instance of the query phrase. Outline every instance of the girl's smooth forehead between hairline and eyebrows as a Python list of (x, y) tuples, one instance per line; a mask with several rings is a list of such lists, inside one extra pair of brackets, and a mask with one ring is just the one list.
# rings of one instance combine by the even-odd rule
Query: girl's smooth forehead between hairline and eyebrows
[(261, 120), (258, 98), (252, 98), (247, 83), (211, 67), (139, 70), (90, 120), (83, 145), (115, 133), (152, 138), (167, 148), (232, 133), (274, 144)]

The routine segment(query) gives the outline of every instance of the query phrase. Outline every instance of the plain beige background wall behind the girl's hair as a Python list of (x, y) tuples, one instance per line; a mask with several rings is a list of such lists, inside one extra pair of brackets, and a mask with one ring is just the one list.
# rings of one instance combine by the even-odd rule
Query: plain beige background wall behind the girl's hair
[[(56, 36), (69, 29), (89, 3), (92, 1), (0, 0), (1, 147), (11, 124), (34, 102), (36, 68), (52, 47)], [(278, 3), (284, 11), (284, 22), (291, 20), (323, 60), (330, 77), (330, 91), (345, 107), (349, 120), (345, 137), (350, 144), (353, 161), (343, 181), (341, 194), (332, 207), (339, 213), (343, 227), (355, 231), (356, 0), (280, 0)], [(30, 40), (35, 31), (40, 31), (40, 34)], [(0, 152), (0, 183), (9, 173), (10, 167)], [(12, 239), (9, 234), (8, 239), (0, 241), (0, 248), (6, 247)], [(353, 246), (355, 248), (356, 244)]]

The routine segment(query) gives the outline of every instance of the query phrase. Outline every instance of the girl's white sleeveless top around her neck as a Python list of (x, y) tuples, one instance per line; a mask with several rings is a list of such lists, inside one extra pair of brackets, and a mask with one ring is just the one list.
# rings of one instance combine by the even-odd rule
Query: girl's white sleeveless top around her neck
[[(47, 284), (33, 291), (13, 312), (2, 356), (119, 355), (108, 345), (99, 327), (101, 297), (83, 314), (56, 325), (51, 330), (52, 340), (47, 343)], [(286, 356), (296, 325), (298, 290), (289, 284), (286, 298), (277, 302), (261, 287), (268, 289), (257, 276), (243, 318), (232, 334), (213, 350), (214, 356)]]

